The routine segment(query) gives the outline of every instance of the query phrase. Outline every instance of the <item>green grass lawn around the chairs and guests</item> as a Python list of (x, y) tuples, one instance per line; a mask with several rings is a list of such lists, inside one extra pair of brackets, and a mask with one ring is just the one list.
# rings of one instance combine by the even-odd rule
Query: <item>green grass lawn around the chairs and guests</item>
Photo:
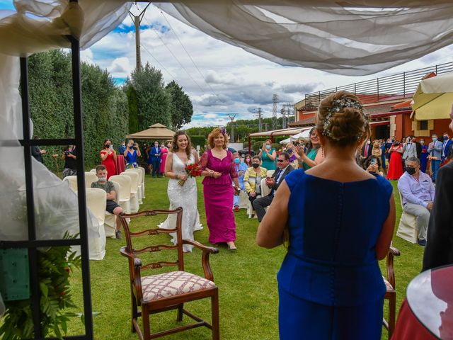
[[(146, 198), (141, 210), (168, 209), (166, 195), (167, 179), (151, 179), (147, 175)], [(195, 239), (202, 244), (207, 243), (208, 231), (206, 215), (202, 200), (201, 179), (198, 179), (198, 209), (204, 229), (195, 232)], [(393, 182), (396, 191), (396, 182)], [(396, 227), (401, 215), (401, 205), (398, 195), (396, 199)], [(372, 209), (373, 203), (369, 203)], [(214, 273), (214, 281), (219, 287), (219, 313), (221, 339), (278, 339), (277, 327), (277, 280), (275, 278), (280, 264), (285, 256), (285, 248), (263, 249), (256, 245), (255, 236), (258, 220), (248, 219), (246, 210), (235, 214), (236, 245), (238, 250), (230, 252), (221, 246), (219, 254), (211, 256), (210, 263)], [(132, 229), (137, 227), (156, 227), (163, 220), (161, 217), (146, 217), (140, 220)], [(154, 220), (153, 220), (154, 218)], [(396, 230), (395, 230), (396, 232)], [(167, 235), (159, 236), (162, 242), (168, 243)], [(127, 259), (120, 256), (119, 249), (125, 245), (122, 240), (107, 239), (106, 255), (103, 261), (91, 261), (91, 298), (93, 311), (101, 312), (94, 320), (95, 339), (138, 339), (137, 334), (130, 330), (130, 286)], [(401, 256), (395, 258), (397, 310), (406, 295), (409, 281), (420, 271), (423, 247), (410, 244), (403, 239), (394, 237), (394, 246), (401, 251)], [(162, 251), (161, 253), (164, 253)], [(154, 254), (161, 259), (165, 254)], [(185, 255), (185, 270), (202, 276), (201, 251)], [(381, 267), (385, 272), (385, 262)], [(72, 278), (74, 283), (74, 299), (83, 310), (81, 295), (81, 273), (76, 271)], [(185, 306), (188, 310), (210, 320), (210, 300), (191, 302)], [(386, 314), (386, 310), (384, 311)], [(160, 331), (176, 325), (176, 311), (151, 315), (151, 331)], [(190, 319), (184, 317), (183, 322)], [(68, 335), (83, 334), (84, 327), (79, 321), (71, 322)], [(382, 339), (386, 339), (383, 331)], [(191, 329), (183, 333), (167, 336), (165, 339), (201, 340), (211, 339), (211, 332), (205, 327)]]

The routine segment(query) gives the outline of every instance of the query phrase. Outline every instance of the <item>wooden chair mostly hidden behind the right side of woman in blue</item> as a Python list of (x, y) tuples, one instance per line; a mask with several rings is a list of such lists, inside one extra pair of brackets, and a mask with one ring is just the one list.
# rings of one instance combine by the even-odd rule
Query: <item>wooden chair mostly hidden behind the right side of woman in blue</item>
[(384, 300), (389, 300), (389, 317), (388, 320), (382, 319), (382, 324), (389, 331), (389, 339), (395, 329), (396, 319), (396, 287), (395, 287), (395, 271), (394, 271), (394, 256), (400, 256), (400, 252), (394, 246), (390, 246), (389, 253), (386, 257), (387, 277), (384, 278), (386, 293)]

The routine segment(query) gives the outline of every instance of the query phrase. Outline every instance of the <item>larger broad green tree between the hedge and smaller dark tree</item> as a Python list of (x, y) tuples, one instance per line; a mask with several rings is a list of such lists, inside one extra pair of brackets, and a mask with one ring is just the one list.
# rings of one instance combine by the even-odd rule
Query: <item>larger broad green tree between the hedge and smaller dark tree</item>
[(144, 130), (155, 123), (169, 126), (171, 96), (164, 88), (164, 79), (159, 69), (147, 63), (132, 72), (128, 83), (134, 87), (137, 94), (139, 130)]

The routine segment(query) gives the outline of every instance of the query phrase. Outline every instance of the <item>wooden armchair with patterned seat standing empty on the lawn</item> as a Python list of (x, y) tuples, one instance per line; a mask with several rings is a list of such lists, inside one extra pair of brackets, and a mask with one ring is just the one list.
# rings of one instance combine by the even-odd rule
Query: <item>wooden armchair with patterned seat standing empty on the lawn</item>
[[(177, 214), (176, 229), (146, 229), (139, 232), (131, 232), (126, 220), (127, 218), (134, 220), (135, 217), (156, 216), (160, 214)], [(120, 221), (122, 227), (124, 227), (126, 238), (126, 246), (120, 249), (120, 253), (129, 260), (132, 331), (137, 331), (141, 340), (154, 339), (159, 336), (201, 326), (212, 329), (212, 339), (219, 339), (219, 296), (217, 286), (212, 282), (214, 277), (209, 263), (210, 254), (217, 254), (219, 251), (210, 246), (203, 246), (199, 242), (183, 239), (181, 236), (182, 218), (182, 208), (176, 210), (147, 210), (135, 214), (120, 215)], [(178, 240), (178, 244), (176, 245), (150, 245), (142, 249), (134, 249), (132, 246), (132, 238), (134, 237), (169, 234), (171, 232), (176, 232)], [(183, 244), (192, 244), (202, 250), (202, 267), (205, 272), (205, 278), (184, 271)], [(178, 253), (176, 261), (173, 262), (159, 261), (142, 264), (142, 261), (139, 259), (139, 254), (142, 253), (153, 253), (154, 251), (171, 249), (176, 250)], [(142, 276), (142, 271), (145, 269), (162, 268), (164, 266), (178, 266), (178, 271)], [(206, 297), (211, 298), (212, 324), (184, 309), (185, 302), (200, 300)], [(176, 321), (182, 321), (183, 314), (186, 314), (196, 322), (151, 334), (149, 315), (173, 309), (178, 310)], [(143, 334), (138, 323), (139, 317), (142, 317)]]

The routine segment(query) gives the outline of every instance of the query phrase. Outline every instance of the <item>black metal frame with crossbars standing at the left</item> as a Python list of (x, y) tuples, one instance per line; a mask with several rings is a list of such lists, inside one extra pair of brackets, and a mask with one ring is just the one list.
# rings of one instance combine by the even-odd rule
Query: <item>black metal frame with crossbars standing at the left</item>
[[(71, 0), (74, 1), (74, 0)], [(30, 139), (30, 110), (28, 91), (28, 58), (21, 57), (21, 96), (22, 96), (22, 119), (23, 140), (19, 140), (23, 146), (25, 164), (25, 192), (27, 203), (28, 240), (23, 241), (0, 241), (0, 249), (28, 249), (30, 266), (30, 305), (33, 312), (34, 339), (57, 339), (44, 338), (41, 330), (40, 314), (40, 283), (38, 281), (38, 248), (49, 246), (80, 246), (81, 247), (81, 271), (84, 293), (84, 318), (85, 334), (78, 336), (65, 336), (64, 339), (91, 340), (93, 339), (93, 319), (91, 312), (91, 288), (90, 269), (88, 258), (88, 229), (86, 220), (86, 191), (85, 191), (85, 166), (84, 166), (84, 135), (81, 102), (81, 79), (80, 79), (80, 46), (79, 40), (71, 35), (67, 36), (71, 42), (72, 62), (72, 91), (74, 103), (74, 139)], [(79, 239), (37, 239), (35, 225), (35, 203), (33, 197), (33, 167), (31, 147), (35, 145), (76, 145), (77, 154), (77, 190), (79, 203)]]

